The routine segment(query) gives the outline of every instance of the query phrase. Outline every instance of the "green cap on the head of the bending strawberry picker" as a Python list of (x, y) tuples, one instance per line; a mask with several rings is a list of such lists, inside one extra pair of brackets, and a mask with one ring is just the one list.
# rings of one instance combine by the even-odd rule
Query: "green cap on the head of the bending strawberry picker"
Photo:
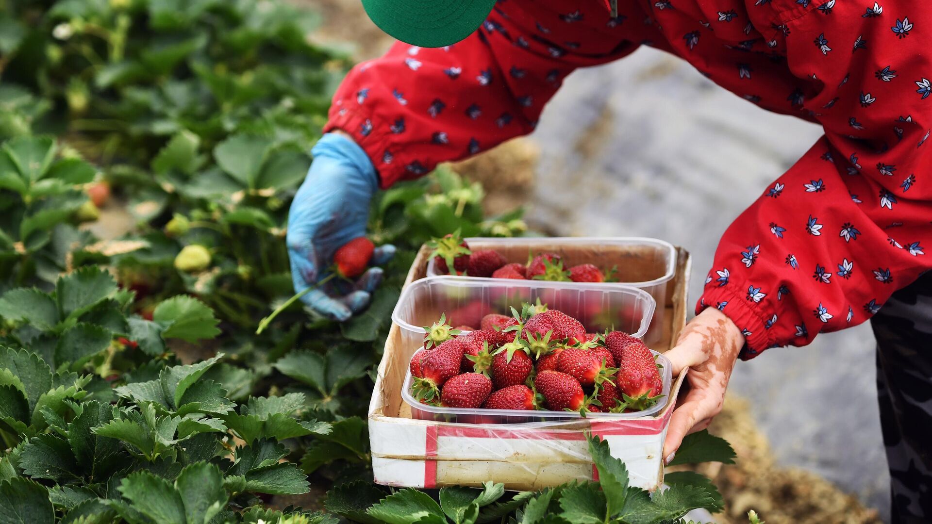
[(363, 0), (379, 29), (421, 48), (455, 44), (486, 20), (496, 0)]

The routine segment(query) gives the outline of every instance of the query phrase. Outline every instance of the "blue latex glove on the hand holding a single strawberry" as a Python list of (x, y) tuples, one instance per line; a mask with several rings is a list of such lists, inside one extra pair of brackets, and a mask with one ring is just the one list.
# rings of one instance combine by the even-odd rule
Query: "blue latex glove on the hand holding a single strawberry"
[[(372, 161), (352, 139), (326, 133), (311, 154), (314, 160), (308, 177), (288, 214), (288, 257), (295, 293), (329, 273), (336, 249), (365, 235), (369, 203), (378, 188)], [(383, 264), (394, 253), (393, 245), (379, 246), (370, 265)], [(382, 269), (370, 268), (355, 283), (333, 279), (301, 299), (311, 309), (342, 322), (368, 305), (381, 281)]]

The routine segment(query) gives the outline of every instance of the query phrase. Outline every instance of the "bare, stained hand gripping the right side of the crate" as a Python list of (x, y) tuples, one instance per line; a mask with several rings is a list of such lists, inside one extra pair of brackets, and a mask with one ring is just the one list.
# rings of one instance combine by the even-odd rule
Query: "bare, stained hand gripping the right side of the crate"
[(708, 427), (721, 412), (738, 352), (745, 345), (741, 330), (720, 310), (707, 308), (686, 324), (677, 345), (665, 355), (673, 376), (689, 367), (689, 390), (680, 397), (664, 443), (664, 462), (673, 460), (683, 437)]

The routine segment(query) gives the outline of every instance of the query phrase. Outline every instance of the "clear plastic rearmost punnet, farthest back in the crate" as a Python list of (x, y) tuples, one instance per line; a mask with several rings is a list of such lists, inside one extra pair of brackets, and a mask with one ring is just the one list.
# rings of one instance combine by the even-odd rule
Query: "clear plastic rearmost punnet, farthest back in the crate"
[[(564, 266), (594, 264), (603, 272), (617, 268), (616, 283), (576, 283), (596, 289), (636, 287), (651, 295), (656, 302), (652, 317), (655, 326), (663, 326), (667, 287), (677, 269), (677, 250), (667, 241), (642, 237), (473, 237), (465, 241), (470, 249), (494, 249), (509, 263), (528, 262), (529, 255), (555, 253)], [(434, 260), (427, 265), (427, 276), (439, 276)], [(505, 279), (472, 277), (476, 280), (502, 282)], [(652, 329), (644, 339), (648, 344), (659, 340), (662, 329)]]

